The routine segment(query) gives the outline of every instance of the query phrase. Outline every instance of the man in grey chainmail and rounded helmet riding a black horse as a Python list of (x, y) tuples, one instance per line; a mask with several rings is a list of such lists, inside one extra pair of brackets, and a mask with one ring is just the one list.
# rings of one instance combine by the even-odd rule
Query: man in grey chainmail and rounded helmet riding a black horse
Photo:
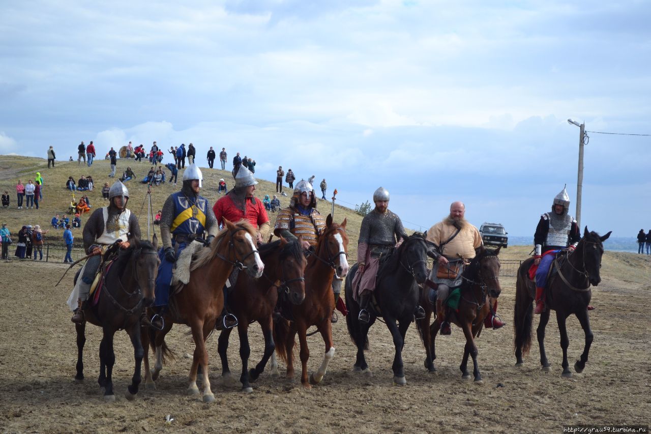
[[(353, 293), (359, 300), (359, 321), (368, 323), (368, 302), (376, 287), (380, 257), (393, 252), (396, 243), (406, 237), (402, 220), (389, 210), (389, 192), (380, 187), (373, 193), (375, 209), (362, 220), (357, 244), (357, 273), (353, 279)], [(416, 319), (425, 317), (425, 311), (417, 306)]]

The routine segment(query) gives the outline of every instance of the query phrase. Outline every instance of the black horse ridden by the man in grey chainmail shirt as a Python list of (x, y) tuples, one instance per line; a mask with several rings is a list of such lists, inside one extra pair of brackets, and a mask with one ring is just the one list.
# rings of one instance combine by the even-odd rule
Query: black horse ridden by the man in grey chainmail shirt
[[(404, 242), (396, 248), (385, 263), (381, 265), (378, 273), (375, 300), (379, 310), (370, 309), (370, 321), (359, 321), (359, 304), (353, 299), (353, 279), (357, 273), (357, 264), (353, 265), (346, 277), (346, 326), (348, 334), (357, 345), (357, 358), (353, 366), (354, 371), (361, 371), (370, 375), (370, 369), (364, 350), (368, 349), (368, 329), (375, 323), (377, 317), (384, 317), (387, 328), (393, 336), (395, 356), (393, 358), (393, 383), (403, 386), (407, 384), (402, 363), (402, 347), (409, 324), (413, 321), (413, 314), (418, 305), (419, 283), (427, 278), (428, 243), (421, 233), (406, 237)], [(396, 321), (398, 324), (396, 325)]]

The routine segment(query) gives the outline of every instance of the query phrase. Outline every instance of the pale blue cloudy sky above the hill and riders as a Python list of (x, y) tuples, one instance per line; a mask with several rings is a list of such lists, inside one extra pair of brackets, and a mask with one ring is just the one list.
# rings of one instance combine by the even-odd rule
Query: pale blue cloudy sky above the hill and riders
[[(581, 225), (651, 227), (651, 5), (644, 1), (0, 2), (0, 154), (192, 142), (273, 181), (378, 186), (405, 225), (466, 205), (533, 237), (567, 184)], [(168, 158), (169, 159), (169, 158)], [(119, 164), (118, 164), (119, 166)], [(143, 174), (144, 175), (144, 174)], [(317, 182), (318, 184), (318, 182)], [(323, 210), (326, 212), (326, 210)]]

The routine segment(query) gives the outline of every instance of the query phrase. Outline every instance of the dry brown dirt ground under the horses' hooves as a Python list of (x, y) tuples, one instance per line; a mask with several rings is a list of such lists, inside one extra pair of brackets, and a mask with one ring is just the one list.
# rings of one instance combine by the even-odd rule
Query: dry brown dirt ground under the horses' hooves
[[(512, 250), (512, 249), (509, 249)], [(221, 381), (216, 334), (208, 345), (217, 401), (204, 404), (186, 396), (192, 353), (187, 328), (175, 326), (168, 343), (176, 354), (161, 373), (158, 390), (141, 388), (136, 401), (124, 398), (133, 373), (133, 350), (123, 332), (116, 338), (113, 381), (117, 401), (100, 394), (100, 329), (87, 328), (85, 384), (76, 384), (76, 344), (70, 312), (64, 305), (72, 285), (68, 273), (55, 283), (62, 265), (0, 263), (0, 431), (1, 432), (562, 432), (566, 424), (643, 424), (651, 419), (651, 362), (648, 295), (651, 284), (603, 276), (593, 290), (590, 313), (594, 343), (582, 374), (561, 377), (561, 347), (553, 317), (547, 327), (550, 373), (540, 369), (537, 345), (516, 368), (512, 349), (515, 279), (501, 279), (499, 312), (508, 325), (485, 330), (478, 340), (485, 384), (463, 381), (458, 369), (464, 340), (458, 328), (437, 340), (434, 375), (423, 366), (424, 349), (415, 326), (404, 348), (406, 386), (391, 382), (393, 342), (385, 325), (370, 333), (367, 360), (372, 377), (353, 373), (355, 347), (345, 321), (334, 328), (337, 352), (324, 382), (305, 390), (297, 380), (273, 379), (268, 370), (252, 394)], [(552, 314), (553, 315), (553, 314)], [(534, 319), (537, 323), (537, 319)], [(252, 325), (251, 364), (262, 354), (260, 329)], [(583, 351), (578, 321), (568, 321), (570, 366)], [(309, 338), (311, 371), (322, 361), (323, 343)], [(232, 336), (230, 366), (240, 369), (239, 343)], [(300, 373), (300, 368), (298, 373)], [(281, 374), (284, 373), (281, 367)], [(239, 373), (238, 373), (239, 374)], [(165, 416), (174, 421), (168, 424)]]

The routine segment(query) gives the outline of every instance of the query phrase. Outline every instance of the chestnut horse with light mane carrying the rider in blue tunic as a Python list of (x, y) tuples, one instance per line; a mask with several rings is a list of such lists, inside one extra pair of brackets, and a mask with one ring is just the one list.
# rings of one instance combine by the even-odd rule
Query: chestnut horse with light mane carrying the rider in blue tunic
[[(152, 350), (156, 351), (156, 364), (149, 371), (149, 360), (145, 356), (145, 385), (158, 379), (163, 368), (163, 356), (171, 354), (165, 344), (165, 335), (174, 323), (189, 325), (195, 341), (195, 352), (190, 368), (188, 394), (199, 394), (197, 388), (197, 369), (202, 368), (203, 401), (212, 402), (215, 396), (210, 390), (208, 380), (208, 352), (205, 341), (215, 328), (215, 322), (224, 307), (222, 288), (229, 278), (233, 267), (245, 268), (253, 277), (262, 276), (264, 264), (255, 246), (255, 229), (244, 220), (232, 224), (224, 219), (225, 227), (205, 248), (193, 258), (190, 280), (171, 298), (170, 310), (163, 314), (165, 326), (159, 332), (152, 332), (154, 339)], [(146, 343), (152, 341), (150, 336), (143, 338)], [(151, 376), (150, 376), (151, 375)]]

